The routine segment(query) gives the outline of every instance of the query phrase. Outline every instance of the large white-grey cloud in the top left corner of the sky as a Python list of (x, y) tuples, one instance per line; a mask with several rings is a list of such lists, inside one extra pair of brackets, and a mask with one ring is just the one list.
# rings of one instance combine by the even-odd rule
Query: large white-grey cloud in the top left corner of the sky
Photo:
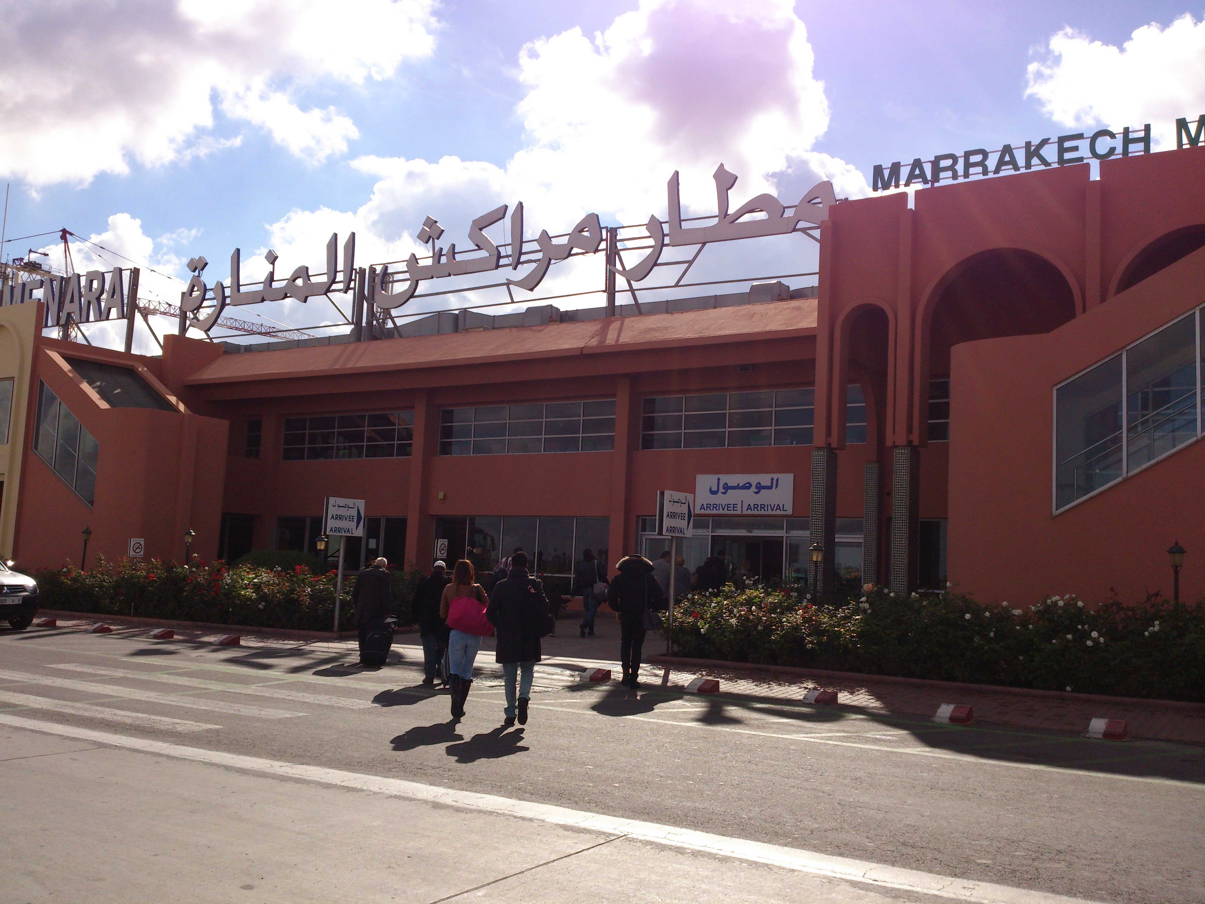
[[(0, 5), (0, 175), (33, 187), (235, 146), (222, 111), (298, 157), (343, 153), (355, 125), (307, 93), (430, 55), (434, 0), (57, 0)], [(388, 35), (388, 40), (366, 36)]]

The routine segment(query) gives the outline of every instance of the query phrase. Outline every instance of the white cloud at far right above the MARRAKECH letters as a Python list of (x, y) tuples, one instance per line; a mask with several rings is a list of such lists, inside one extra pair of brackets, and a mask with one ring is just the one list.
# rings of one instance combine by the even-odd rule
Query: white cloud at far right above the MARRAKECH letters
[(1142, 25), (1121, 47), (1066, 28), (1027, 75), (1025, 96), (1059, 125), (1119, 133), (1151, 123), (1156, 146), (1174, 146), (1175, 121), (1205, 112), (1205, 22)]

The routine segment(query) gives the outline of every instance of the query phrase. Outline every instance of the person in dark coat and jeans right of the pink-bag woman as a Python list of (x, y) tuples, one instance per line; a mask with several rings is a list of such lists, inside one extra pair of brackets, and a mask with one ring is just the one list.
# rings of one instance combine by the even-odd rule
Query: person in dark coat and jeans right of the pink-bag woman
[[(513, 726), (516, 716), (519, 724), (527, 723), (531, 677), (540, 662), (540, 636), (548, 618), (543, 583), (528, 574), (527, 565), (527, 553), (521, 551), (511, 556), (511, 570), (494, 585), (486, 609), (486, 618), (496, 634), (494, 658), (501, 663), (505, 675), (506, 726)], [(515, 699), (516, 680), (519, 682), (518, 700)]]

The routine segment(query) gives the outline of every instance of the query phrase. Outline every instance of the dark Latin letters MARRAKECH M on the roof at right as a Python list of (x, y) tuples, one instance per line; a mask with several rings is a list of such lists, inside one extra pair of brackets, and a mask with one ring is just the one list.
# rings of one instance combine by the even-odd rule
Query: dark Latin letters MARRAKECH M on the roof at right
[[(1176, 119), (1177, 148), (1197, 147), (1201, 142), (1203, 134), (1205, 134), (1205, 116), (1198, 117), (1192, 125), (1185, 117)], [(1021, 172), (1022, 169), (1031, 170), (1034, 165), (1042, 169), (1070, 166), (1083, 163), (1087, 159), (1083, 155), (1084, 152), (1095, 160), (1107, 160), (1118, 153), (1122, 157), (1129, 157), (1134, 153), (1151, 153), (1150, 123), (1141, 129), (1131, 130), (1128, 125), (1122, 129), (1119, 147), (1115, 143), (1117, 137), (1117, 133), (1110, 129), (1098, 129), (1092, 135), (1076, 131), (1070, 135), (1059, 135), (1057, 139), (1042, 139), (1038, 142), (1027, 141), (1024, 147), (1005, 145), (999, 151), (976, 147), (971, 151), (964, 151), (962, 154), (937, 154), (931, 160), (922, 160), (917, 157), (909, 165), (906, 175), (900, 160), (886, 168), (875, 164), (875, 170), (871, 174), (871, 190), (883, 192), (888, 188), (899, 188), (901, 176), (904, 188), (910, 188), (911, 186), (935, 186), (941, 182), (942, 177), (953, 182), (959, 177)], [(1047, 154), (1050, 157), (1046, 157)], [(995, 157), (995, 164), (989, 166), (992, 157)]]

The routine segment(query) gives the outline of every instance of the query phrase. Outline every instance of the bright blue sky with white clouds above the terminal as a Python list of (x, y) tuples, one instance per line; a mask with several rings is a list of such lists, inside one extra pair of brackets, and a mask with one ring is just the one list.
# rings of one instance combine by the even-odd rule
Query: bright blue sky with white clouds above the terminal
[[(246, 281), (269, 248), (277, 274), (324, 269), (333, 231), (357, 233), (360, 264), (422, 253), (427, 216), (468, 248), (475, 217), (516, 201), (529, 239), (592, 212), (642, 224), (675, 170), (683, 215), (713, 215), (719, 163), (735, 204), (821, 180), (860, 198), (875, 164), (1147, 122), (1166, 148), (1205, 113), (1205, 4), (1164, 0), (0, 0), (0, 40), (5, 235), (65, 227), (95, 243), (77, 270), (137, 262), (172, 303), (189, 258), (212, 284), (235, 247)], [(63, 265), (53, 236), (4, 254), (30, 248)], [(706, 252), (692, 280), (816, 260), (799, 235)], [(528, 295), (595, 288), (600, 268)], [(235, 313), (333, 322), (318, 301)]]

